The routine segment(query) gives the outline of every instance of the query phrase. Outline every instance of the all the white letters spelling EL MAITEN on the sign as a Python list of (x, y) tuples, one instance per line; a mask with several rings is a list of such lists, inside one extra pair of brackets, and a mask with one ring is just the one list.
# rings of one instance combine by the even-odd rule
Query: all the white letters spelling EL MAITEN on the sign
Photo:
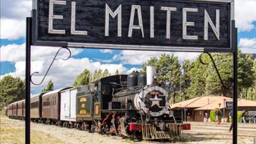
[[(63, 15), (53, 15), (53, 7), (54, 5), (66, 5), (67, 1), (56, 1), (50, 0), (49, 1), (49, 18), (48, 18), (48, 34), (66, 34), (64, 29), (53, 29), (53, 19), (63, 20)], [(75, 7), (76, 2), (71, 1), (71, 23), (70, 23), (70, 34), (72, 35), (88, 35), (88, 31), (78, 31), (75, 30)], [(150, 9), (150, 38), (154, 38), (154, 7), (149, 7)], [(161, 7), (161, 11), (166, 11), (166, 39), (170, 39), (170, 21), (171, 21), (171, 12), (177, 12), (176, 7)], [(116, 8), (115, 11), (111, 10), (108, 4), (105, 4), (105, 37), (109, 37), (109, 25), (110, 25), (110, 17), (116, 18), (117, 17), (117, 36), (122, 37), (122, 8), (121, 4)], [(134, 24), (135, 20), (135, 12), (138, 15), (138, 25)], [(187, 27), (188, 26), (195, 26), (195, 22), (187, 21), (188, 12), (198, 12), (197, 8), (182, 8), (182, 39), (189, 39), (189, 40), (197, 40), (198, 36), (196, 35), (187, 35)], [(211, 20), (208, 12), (204, 10), (204, 28), (203, 28), (203, 39), (208, 40), (208, 26), (211, 27), (211, 30), (214, 32), (215, 37), (219, 40), (220, 34), (220, 23), (219, 23), (219, 10), (216, 10), (216, 18), (215, 18), (215, 26), (213, 21)], [(144, 38), (144, 29), (143, 29), (143, 18), (140, 5), (132, 5), (130, 18), (129, 18), (129, 30), (128, 30), (128, 37), (132, 37), (132, 31), (134, 29), (138, 29), (141, 32), (141, 36)]]

